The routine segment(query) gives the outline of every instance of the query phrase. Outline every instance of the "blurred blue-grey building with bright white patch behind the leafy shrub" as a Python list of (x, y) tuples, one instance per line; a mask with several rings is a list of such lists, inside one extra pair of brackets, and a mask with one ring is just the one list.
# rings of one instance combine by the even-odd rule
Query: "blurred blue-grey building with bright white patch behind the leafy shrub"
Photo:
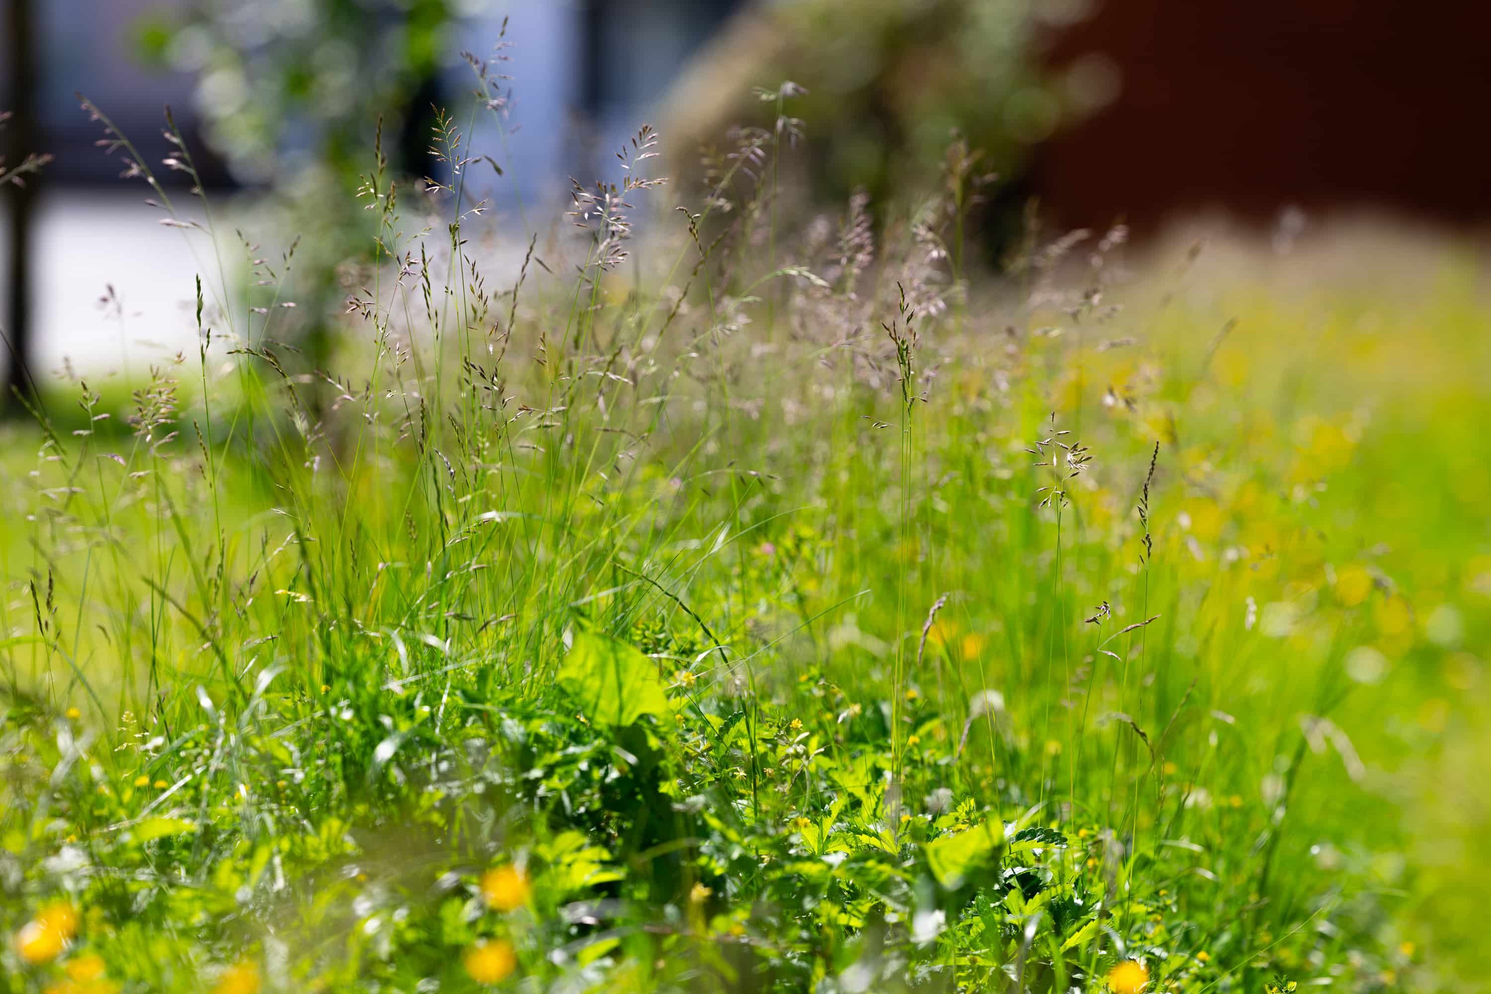
[[(121, 347), (106, 308), (95, 306), (107, 285), (116, 285), (127, 307), (130, 298), (137, 303), (140, 310), (131, 313), (151, 338), (170, 340), (161, 325), (180, 323), (174, 298), (182, 291), (152, 286), (151, 267), (133, 261), (154, 256), (192, 265), (179, 235), (155, 228), (155, 215), (140, 204), (148, 191), (139, 180), (121, 182), (119, 158), (97, 148), (101, 127), (79, 109), (78, 94), (94, 100), (152, 165), (170, 153), (161, 134), (163, 109), (170, 104), (206, 183), (231, 188), (243, 179), (201, 140), (198, 112), (212, 92), (203, 86), (189, 33), (174, 34), (155, 64), (146, 64), (152, 31), (167, 33), (185, 4), (0, 0), (6, 27), (0, 110), (16, 112), (9, 140), (0, 134), (0, 149), (12, 161), (25, 151), (54, 156), (25, 191), (0, 191), (0, 328), (33, 356), (37, 377), (64, 352), (97, 356), (101, 349), (112, 356)], [(294, 4), (258, 6), (273, 15)], [(562, 195), (565, 177), (610, 162), (602, 149), (635, 130), (690, 52), (740, 6), (741, 0), (471, 0), (447, 31), (449, 67), (416, 100), (453, 106), (467, 98), (474, 80), (459, 54), (489, 55), (505, 22), (511, 61), (501, 72), (511, 76), (514, 134), (499, 149), (491, 130), (479, 131), (474, 152), (507, 162), (504, 182), (492, 191), (498, 207)], [(383, 16), (397, 4), (370, 0), (368, 9), (370, 16)], [(406, 137), (406, 146), (428, 146), (423, 136)], [(294, 158), (294, 148), (286, 152)], [(157, 171), (166, 183), (180, 180), (170, 170)], [(64, 244), (72, 250), (55, 250)], [(134, 249), (133, 258), (121, 258), (122, 246)], [(0, 365), (15, 370), (4, 352)]]

